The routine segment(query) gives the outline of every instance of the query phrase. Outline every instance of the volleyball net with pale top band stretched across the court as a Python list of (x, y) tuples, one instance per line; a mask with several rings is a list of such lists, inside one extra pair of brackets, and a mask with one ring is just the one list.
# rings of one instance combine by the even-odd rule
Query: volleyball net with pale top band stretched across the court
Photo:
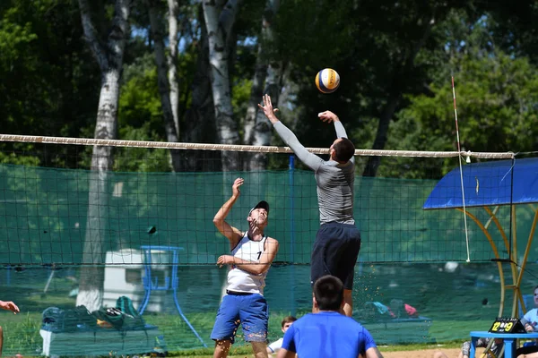
[[(85, 263), (102, 264), (108, 251), (152, 244), (182, 247), (181, 263), (213, 264), (214, 256), (228, 247), (216, 234), (213, 216), (230, 197), (239, 176), (245, 178), (245, 185), (228, 217), (230, 223), (245, 226), (248, 210), (267, 200), (271, 206), (267, 230), (281, 243), (277, 260), (309, 263), (319, 225), (316, 181), (289, 149), (103, 141), (117, 146), (113, 171), (96, 174), (90, 170), (91, 144), (99, 140), (5, 135), (2, 140), (0, 264), (80, 265), (83, 243), (91, 240), (90, 220), (99, 223), (93, 237), (102, 247), (100, 252), (86, 252), (94, 255), (95, 262)], [(174, 144), (183, 164), (180, 172), (170, 172)], [(327, 149), (312, 151), (324, 157)], [(357, 152), (355, 219), (363, 238), (360, 261), (466, 259), (462, 214), (422, 209), (438, 180), (458, 166), (458, 153)], [(235, 170), (222, 171), (222, 153), (237, 161)], [(381, 157), (377, 176), (361, 176), (372, 154)], [(473, 160), (511, 157), (510, 153), (467, 155)], [(251, 170), (253, 161), (256, 169)], [(98, 192), (91, 192), (95, 188)], [(460, 188), (453, 189), (448, 196), (461, 195)], [(502, 213), (498, 217), (506, 218)], [(472, 259), (489, 260), (489, 244), (480, 237), (482, 232), (473, 226), (466, 230)], [(87, 248), (91, 250), (91, 245)]]

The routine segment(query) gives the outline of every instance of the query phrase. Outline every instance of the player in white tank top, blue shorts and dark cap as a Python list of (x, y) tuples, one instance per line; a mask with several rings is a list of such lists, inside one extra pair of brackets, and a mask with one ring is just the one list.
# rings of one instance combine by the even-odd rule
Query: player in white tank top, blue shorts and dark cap
[(256, 357), (267, 357), (267, 323), (269, 320), (264, 294), (265, 276), (271, 267), (278, 242), (264, 234), (269, 215), (269, 204), (260, 201), (248, 212), (247, 232), (230, 226), (226, 217), (239, 199), (239, 187), (244, 180), (237, 178), (232, 185), (232, 195), (213, 217), (213, 224), (230, 241), (230, 255), (222, 255), (217, 264), (230, 265), (227, 295), (221, 306), (211, 334), (215, 341), (213, 357), (227, 357), (239, 321), (245, 340), (252, 345)]

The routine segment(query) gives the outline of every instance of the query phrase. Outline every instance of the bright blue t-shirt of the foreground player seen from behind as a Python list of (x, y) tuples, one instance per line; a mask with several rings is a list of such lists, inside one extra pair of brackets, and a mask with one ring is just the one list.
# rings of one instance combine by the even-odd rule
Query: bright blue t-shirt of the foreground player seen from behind
[(334, 311), (306, 314), (293, 322), (282, 342), (283, 349), (308, 358), (357, 358), (376, 346), (359, 322)]

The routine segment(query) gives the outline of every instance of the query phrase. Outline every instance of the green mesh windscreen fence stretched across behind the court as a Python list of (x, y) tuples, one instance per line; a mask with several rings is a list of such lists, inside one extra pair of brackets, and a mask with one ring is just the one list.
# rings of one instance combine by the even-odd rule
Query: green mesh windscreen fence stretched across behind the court
[[(0, 312), (4, 354), (159, 354), (213, 346), (226, 280), (226, 268), (215, 263), (230, 250), (213, 216), (230, 198), (236, 177), (245, 184), (227, 218), (232, 226), (246, 229), (248, 210), (259, 200), (271, 206), (266, 233), (280, 250), (265, 296), (269, 339), (281, 337), (284, 316), (310, 310), (308, 264), (319, 223), (313, 173), (274, 166), (281, 169), (160, 173), (122, 172), (119, 166), (99, 176), (83, 169), (0, 166), (0, 299), (21, 308), (16, 316)], [(460, 211), (422, 209), (442, 172), (415, 175), (396, 163), (380, 173), (386, 176), (358, 174), (355, 180), (362, 246), (354, 318), (378, 344), (388, 345), (445, 342), (487, 330), (499, 313), (499, 271), (482, 230), (472, 220), (465, 227)], [(469, 210), (488, 221), (483, 210)], [(534, 208), (515, 212), (522, 254)], [(496, 209), (508, 234), (511, 215), (508, 207)], [(490, 232), (499, 256), (508, 258), (499, 230)], [(467, 247), (471, 262), (465, 262)], [(533, 245), (525, 294), (536, 284), (536, 260)], [(99, 278), (101, 314), (125, 296), (135, 310), (143, 308), (143, 325), (127, 318), (125, 326), (114, 326), (99, 320), (107, 319), (99, 312), (90, 319), (77, 312), (83, 273)], [(241, 334), (239, 329), (238, 345), (245, 344)]]

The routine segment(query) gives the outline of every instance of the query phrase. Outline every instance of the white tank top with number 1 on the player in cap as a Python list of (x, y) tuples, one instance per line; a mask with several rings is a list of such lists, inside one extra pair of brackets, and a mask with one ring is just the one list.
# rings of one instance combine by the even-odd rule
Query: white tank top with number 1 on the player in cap
[[(267, 236), (264, 236), (260, 241), (252, 241), (248, 238), (248, 234), (245, 233), (236, 247), (231, 250), (231, 254), (239, 259), (259, 262), (265, 251), (265, 240), (267, 240)], [(263, 274), (254, 275), (232, 266), (230, 272), (228, 272), (228, 290), (263, 295), (266, 276), (267, 271)]]

